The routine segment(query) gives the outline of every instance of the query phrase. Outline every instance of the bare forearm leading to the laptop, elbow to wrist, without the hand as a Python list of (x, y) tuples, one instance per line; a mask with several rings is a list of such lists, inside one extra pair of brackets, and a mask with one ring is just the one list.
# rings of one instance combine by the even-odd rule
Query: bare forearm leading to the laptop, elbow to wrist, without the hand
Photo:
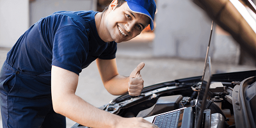
[[(54, 111), (88, 127), (114, 127), (122, 117), (95, 108), (77, 95), (60, 95)], [(107, 118), (106, 118), (107, 117)]]

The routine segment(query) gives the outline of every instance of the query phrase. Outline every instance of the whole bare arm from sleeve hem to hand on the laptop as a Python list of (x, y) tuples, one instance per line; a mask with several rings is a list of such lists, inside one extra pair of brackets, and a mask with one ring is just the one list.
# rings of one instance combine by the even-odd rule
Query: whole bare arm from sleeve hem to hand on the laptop
[(155, 127), (143, 118), (123, 118), (102, 111), (75, 95), (78, 83), (76, 73), (52, 66), (51, 74), (52, 106), (56, 113), (88, 127)]

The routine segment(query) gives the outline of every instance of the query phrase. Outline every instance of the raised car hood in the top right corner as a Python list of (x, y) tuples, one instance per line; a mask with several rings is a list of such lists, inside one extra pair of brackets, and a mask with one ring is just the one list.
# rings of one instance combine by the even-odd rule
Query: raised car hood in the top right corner
[(251, 0), (193, 0), (256, 60), (256, 9)]

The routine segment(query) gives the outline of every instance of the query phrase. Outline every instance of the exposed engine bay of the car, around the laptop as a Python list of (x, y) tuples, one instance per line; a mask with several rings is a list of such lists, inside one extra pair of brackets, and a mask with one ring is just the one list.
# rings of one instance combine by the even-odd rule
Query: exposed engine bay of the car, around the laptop
[[(214, 74), (207, 95), (204, 127), (255, 127), (256, 70)], [(194, 107), (201, 76), (178, 79), (143, 88), (141, 95), (122, 95), (99, 109), (122, 117), (148, 117)], [(206, 112), (205, 112), (206, 113)], [(206, 120), (206, 121), (205, 121)], [(73, 127), (83, 127), (79, 124)]]

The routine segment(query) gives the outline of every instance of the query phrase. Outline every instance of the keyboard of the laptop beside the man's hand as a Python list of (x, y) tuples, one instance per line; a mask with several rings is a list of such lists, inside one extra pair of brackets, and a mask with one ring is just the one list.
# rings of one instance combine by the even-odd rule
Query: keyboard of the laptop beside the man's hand
[(173, 111), (171, 113), (165, 113), (164, 115), (156, 116), (154, 124), (159, 128), (177, 128), (179, 123), (179, 111)]

